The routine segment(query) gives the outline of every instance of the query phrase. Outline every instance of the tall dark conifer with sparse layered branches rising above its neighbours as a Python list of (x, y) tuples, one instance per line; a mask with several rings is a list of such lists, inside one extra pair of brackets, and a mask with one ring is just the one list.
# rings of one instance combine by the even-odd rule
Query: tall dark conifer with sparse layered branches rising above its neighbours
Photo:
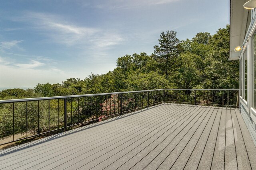
[(176, 38), (176, 31), (167, 31), (161, 33), (159, 45), (154, 46), (154, 59), (157, 62), (158, 68), (168, 78), (169, 74), (174, 69), (174, 64), (178, 58), (178, 44), (180, 41)]

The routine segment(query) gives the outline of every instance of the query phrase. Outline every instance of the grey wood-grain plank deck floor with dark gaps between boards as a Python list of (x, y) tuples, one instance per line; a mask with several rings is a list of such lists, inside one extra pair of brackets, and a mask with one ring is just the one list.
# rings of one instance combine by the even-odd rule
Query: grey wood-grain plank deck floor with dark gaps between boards
[(0, 151), (0, 169), (256, 170), (238, 109), (164, 104)]

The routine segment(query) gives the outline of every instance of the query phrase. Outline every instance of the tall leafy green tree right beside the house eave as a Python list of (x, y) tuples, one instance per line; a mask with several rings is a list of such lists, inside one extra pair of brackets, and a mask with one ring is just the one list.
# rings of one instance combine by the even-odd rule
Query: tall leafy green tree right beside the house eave
[(228, 61), (230, 26), (219, 29), (208, 44), (209, 55), (204, 60), (206, 79), (203, 88), (238, 88), (239, 61)]

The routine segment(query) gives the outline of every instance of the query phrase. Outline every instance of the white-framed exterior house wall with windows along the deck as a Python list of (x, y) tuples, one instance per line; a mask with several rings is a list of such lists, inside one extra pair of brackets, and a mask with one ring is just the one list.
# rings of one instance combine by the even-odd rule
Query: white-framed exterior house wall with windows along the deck
[[(256, 108), (253, 108), (254, 98), (254, 82), (253, 82), (253, 50), (256, 49), (256, 44), (253, 48), (253, 37), (256, 34), (256, 10), (251, 10), (252, 17), (250, 25), (246, 31), (246, 36), (243, 42), (243, 50), (240, 55), (240, 113), (248, 127), (254, 144), (256, 145)], [(254, 51), (256, 53), (256, 51)], [(247, 66), (244, 66), (244, 58), (247, 55)], [(244, 72), (247, 68), (247, 96), (245, 95)], [(256, 98), (254, 99), (256, 100)]]

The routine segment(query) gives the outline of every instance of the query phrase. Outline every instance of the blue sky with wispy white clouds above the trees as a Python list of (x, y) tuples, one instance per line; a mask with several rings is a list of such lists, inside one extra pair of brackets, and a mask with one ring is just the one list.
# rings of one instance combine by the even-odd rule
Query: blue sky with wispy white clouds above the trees
[(160, 32), (216, 33), (229, 0), (0, 1), (0, 87), (35, 87), (104, 74), (118, 57), (146, 52)]

